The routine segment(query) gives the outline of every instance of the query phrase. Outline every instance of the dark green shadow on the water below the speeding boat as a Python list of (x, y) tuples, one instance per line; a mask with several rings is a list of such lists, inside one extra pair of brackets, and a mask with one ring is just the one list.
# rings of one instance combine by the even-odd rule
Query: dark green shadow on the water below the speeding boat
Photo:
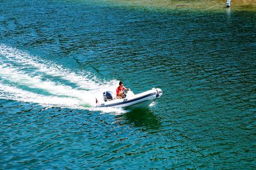
[(134, 127), (143, 127), (143, 130), (157, 130), (161, 127), (161, 122), (152, 110), (136, 109), (121, 116), (124, 124), (132, 124)]

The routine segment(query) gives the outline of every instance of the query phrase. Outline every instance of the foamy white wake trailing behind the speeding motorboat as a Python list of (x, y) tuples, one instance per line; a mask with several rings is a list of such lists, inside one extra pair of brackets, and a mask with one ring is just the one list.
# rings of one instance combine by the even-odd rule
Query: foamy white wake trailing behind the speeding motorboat
[(115, 89), (117, 80), (103, 81), (90, 72), (76, 73), (63, 66), (0, 44), (0, 99), (102, 112), (120, 108), (95, 108), (95, 97)]

